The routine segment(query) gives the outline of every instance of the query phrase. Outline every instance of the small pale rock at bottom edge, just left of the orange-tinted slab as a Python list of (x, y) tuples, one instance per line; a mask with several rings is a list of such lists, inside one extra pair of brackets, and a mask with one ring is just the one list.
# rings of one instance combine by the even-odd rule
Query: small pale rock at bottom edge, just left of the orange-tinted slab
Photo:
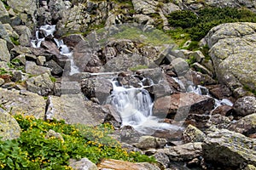
[(91, 162), (88, 158), (84, 157), (81, 160), (69, 160), (69, 166), (74, 170), (84, 169), (84, 170), (98, 170), (96, 164)]

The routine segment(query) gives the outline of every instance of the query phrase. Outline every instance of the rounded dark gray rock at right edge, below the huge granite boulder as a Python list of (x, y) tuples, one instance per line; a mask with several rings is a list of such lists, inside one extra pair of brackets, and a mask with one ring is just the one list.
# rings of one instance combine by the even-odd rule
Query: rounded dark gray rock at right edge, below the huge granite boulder
[(256, 98), (254, 96), (245, 96), (237, 99), (234, 104), (234, 111), (237, 116), (247, 116), (256, 111)]

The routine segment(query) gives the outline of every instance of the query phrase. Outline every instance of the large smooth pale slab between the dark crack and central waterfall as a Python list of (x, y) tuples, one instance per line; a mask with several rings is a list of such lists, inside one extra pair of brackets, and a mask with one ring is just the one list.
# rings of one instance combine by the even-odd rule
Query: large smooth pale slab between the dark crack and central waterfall
[(102, 124), (107, 115), (101, 105), (85, 101), (83, 94), (49, 96), (47, 104), (46, 119), (64, 120), (68, 124), (96, 126)]

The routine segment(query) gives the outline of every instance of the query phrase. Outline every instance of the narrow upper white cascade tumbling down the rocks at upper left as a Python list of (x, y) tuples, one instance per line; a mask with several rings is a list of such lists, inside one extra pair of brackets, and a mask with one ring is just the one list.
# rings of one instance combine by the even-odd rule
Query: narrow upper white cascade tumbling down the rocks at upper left
[[(44, 37), (39, 37), (39, 31), (42, 31), (44, 34)], [(36, 31), (36, 39), (32, 40), (32, 47), (33, 48), (40, 48), (41, 43), (44, 42), (45, 37), (48, 37), (51, 35), (52, 37), (54, 36), (55, 26), (41, 26), (39, 28), (39, 31)], [(60, 54), (65, 55), (70, 59), (70, 71), (69, 75), (73, 75), (75, 73), (79, 73), (79, 67), (75, 65), (73, 61), (73, 52), (70, 50), (70, 48), (67, 47), (67, 45), (64, 44), (63, 40), (59, 40), (57, 38), (54, 38), (56, 46), (60, 49)]]

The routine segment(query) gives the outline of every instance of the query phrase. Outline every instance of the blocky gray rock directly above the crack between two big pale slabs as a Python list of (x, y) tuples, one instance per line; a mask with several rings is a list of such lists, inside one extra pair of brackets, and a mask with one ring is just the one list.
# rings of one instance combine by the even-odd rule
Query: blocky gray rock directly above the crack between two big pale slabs
[(38, 77), (31, 77), (26, 81), (27, 90), (39, 94), (49, 95), (53, 94), (54, 83), (51, 81), (49, 74), (44, 73)]

